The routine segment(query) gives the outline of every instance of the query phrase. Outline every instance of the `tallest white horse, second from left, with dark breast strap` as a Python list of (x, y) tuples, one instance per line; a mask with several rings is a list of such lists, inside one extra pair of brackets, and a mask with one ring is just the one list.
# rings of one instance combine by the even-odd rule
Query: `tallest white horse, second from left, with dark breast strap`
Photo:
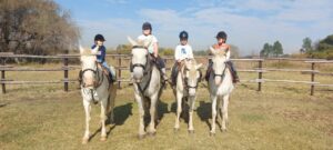
[(148, 133), (154, 136), (157, 104), (161, 94), (162, 83), (161, 73), (157, 64), (151, 62), (150, 54), (144, 43), (139, 43), (130, 37), (128, 40), (132, 48), (132, 67), (133, 67), (133, 87), (134, 97), (139, 107), (139, 139), (144, 138), (144, 110), (149, 107), (150, 123), (147, 129)]

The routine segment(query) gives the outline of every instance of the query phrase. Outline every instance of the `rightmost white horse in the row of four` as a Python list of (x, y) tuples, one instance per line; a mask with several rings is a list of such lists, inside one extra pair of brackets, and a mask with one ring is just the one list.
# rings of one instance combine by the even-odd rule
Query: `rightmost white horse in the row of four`
[(231, 72), (225, 64), (225, 52), (221, 50), (214, 50), (212, 47), (210, 49), (213, 53), (213, 70), (208, 82), (212, 101), (212, 128), (210, 133), (215, 134), (216, 109), (220, 110), (220, 116), (222, 118), (221, 130), (226, 131), (229, 97), (234, 87), (232, 83)]

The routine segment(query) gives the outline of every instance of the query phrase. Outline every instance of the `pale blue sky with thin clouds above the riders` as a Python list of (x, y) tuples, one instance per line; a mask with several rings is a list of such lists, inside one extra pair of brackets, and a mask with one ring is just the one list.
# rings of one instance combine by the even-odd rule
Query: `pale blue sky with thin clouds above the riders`
[(102, 33), (107, 48), (129, 43), (152, 23), (159, 44), (174, 48), (179, 33), (189, 32), (193, 50), (216, 42), (219, 31), (241, 56), (258, 54), (265, 42), (279, 40), (284, 53), (296, 53), (305, 37), (313, 41), (333, 33), (332, 0), (54, 0), (70, 11), (81, 30), (80, 43), (90, 47)]

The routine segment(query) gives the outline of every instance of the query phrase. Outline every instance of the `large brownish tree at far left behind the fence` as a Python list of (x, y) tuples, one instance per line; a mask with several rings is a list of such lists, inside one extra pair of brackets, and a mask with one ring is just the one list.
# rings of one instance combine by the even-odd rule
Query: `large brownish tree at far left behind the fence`
[(0, 51), (62, 53), (75, 46), (79, 37), (70, 13), (52, 0), (0, 1)]

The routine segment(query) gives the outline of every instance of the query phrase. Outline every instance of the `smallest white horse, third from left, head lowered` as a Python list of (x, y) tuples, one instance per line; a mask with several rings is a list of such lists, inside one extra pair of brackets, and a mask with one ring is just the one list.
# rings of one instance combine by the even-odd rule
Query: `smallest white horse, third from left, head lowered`
[(193, 110), (196, 98), (196, 88), (201, 80), (202, 63), (196, 64), (194, 59), (186, 59), (182, 62), (181, 69), (176, 76), (176, 86), (173, 88), (173, 93), (176, 97), (176, 118), (174, 123), (175, 131), (179, 130), (180, 114), (184, 102), (189, 102), (189, 132), (194, 133), (193, 127)]

